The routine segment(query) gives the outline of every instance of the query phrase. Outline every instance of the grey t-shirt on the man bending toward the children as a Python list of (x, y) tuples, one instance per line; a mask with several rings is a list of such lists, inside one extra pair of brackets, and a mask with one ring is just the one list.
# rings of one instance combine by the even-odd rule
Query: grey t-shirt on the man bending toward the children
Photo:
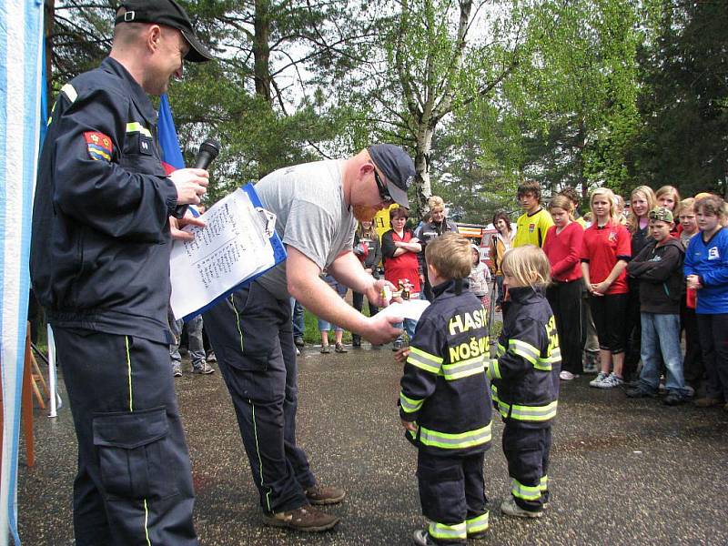
[[(256, 184), (256, 192), (277, 216), (276, 232), (324, 269), (341, 252), (351, 250), (357, 221), (344, 200), (339, 160), (317, 161), (278, 169)], [(258, 282), (278, 299), (288, 298), (286, 262)]]

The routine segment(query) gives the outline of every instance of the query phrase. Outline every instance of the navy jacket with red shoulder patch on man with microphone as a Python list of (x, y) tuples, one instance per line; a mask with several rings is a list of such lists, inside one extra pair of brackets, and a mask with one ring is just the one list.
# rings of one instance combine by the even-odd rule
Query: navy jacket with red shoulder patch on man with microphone
[(54, 326), (168, 342), (168, 217), (177, 189), (157, 113), (114, 59), (53, 107), (38, 169), (31, 277)]

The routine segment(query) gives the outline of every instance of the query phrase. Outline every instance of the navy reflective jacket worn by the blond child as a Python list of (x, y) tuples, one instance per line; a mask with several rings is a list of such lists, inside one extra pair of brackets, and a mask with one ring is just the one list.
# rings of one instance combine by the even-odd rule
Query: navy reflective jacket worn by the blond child
[(561, 349), (556, 319), (541, 288), (511, 288), (490, 360), (493, 404), (504, 421), (530, 429), (551, 426), (559, 397)]

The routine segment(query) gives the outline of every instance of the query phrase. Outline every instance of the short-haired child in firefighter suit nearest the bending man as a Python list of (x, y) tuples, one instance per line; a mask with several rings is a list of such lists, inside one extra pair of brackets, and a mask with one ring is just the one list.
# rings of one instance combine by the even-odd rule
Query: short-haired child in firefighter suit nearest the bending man
[(414, 541), (465, 544), (488, 530), (483, 460), (490, 448), (486, 311), (468, 291), (470, 243), (449, 233), (427, 248), (434, 300), (418, 322), (406, 358), (399, 417), (419, 450), (417, 475), (427, 530)]

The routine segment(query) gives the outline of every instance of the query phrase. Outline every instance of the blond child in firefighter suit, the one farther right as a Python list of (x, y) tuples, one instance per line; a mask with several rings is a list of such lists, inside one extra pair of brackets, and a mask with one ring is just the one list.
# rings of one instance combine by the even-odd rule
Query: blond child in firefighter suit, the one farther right
[(556, 322), (544, 294), (551, 267), (541, 248), (528, 245), (506, 252), (502, 270), (511, 301), (504, 306), (498, 358), (487, 372), (493, 404), (505, 422), (503, 453), (512, 479), (501, 511), (538, 518), (549, 501), (551, 421), (561, 369)]

